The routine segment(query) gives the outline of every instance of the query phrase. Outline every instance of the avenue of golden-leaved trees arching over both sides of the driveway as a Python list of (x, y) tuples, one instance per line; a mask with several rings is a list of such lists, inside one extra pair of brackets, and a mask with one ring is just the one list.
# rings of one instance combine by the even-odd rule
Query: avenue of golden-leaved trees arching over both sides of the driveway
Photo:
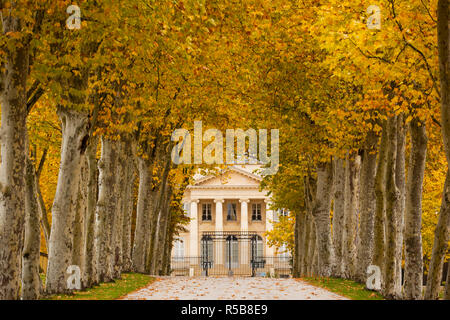
[(264, 186), (292, 212), (294, 276), (376, 265), (385, 297), (438, 298), (448, 0), (85, 0), (70, 29), (72, 4), (0, 0), (0, 299), (68, 292), (72, 265), (83, 288), (168, 274), (198, 170), (171, 135), (200, 120), (280, 130)]

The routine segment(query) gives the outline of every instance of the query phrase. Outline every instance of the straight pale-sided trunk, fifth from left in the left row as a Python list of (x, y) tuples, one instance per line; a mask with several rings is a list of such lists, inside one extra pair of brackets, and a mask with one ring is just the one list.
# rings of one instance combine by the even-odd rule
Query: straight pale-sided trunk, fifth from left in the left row
[(99, 193), (96, 208), (98, 219), (97, 238), (97, 272), (100, 282), (114, 279), (113, 229), (117, 214), (117, 143), (102, 137), (102, 154), (98, 164)]

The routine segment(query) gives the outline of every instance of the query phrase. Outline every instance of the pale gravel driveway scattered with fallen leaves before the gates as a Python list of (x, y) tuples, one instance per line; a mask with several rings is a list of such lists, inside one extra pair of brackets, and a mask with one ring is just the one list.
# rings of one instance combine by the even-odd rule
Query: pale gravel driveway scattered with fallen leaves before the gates
[(125, 300), (346, 300), (295, 279), (233, 277), (158, 278)]

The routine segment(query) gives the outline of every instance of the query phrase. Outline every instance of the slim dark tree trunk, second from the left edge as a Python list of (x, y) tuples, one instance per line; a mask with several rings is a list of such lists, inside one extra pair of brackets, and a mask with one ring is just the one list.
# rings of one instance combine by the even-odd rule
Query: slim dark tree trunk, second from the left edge
[(39, 256), (41, 229), (36, 198), (36, 173), (33, 162), (27, 158), (25, 198), (25, 241), (22, 251), (22, 300), (38, 300), (41, 290)]

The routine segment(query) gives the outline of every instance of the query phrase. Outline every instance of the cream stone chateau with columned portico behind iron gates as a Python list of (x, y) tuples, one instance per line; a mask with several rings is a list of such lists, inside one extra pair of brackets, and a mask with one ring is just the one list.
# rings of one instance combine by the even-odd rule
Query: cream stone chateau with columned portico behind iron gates
[(183, 197), (188, 232), (172, 250), (174, 274), (289, 273), (290, 257), (267, 244), (265, 232), (280, 212), (271, 210), (267, 191), (260, 190), (258, 167), (234, 165), (220, 175), (194, 177)]

